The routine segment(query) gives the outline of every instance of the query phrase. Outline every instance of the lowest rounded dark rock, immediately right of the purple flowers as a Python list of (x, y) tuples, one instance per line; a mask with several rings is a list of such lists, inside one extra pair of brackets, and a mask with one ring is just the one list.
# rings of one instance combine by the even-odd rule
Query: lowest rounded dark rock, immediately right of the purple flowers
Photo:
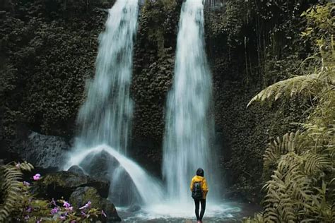
[(91, 202), (91, 207), (98, 208), (106, 213), (107, 219), (101, 217), (103, 222), (121, 222), (119, 215), (117, 215), (115, 206), (109, 200), (101, 198), (98, 191), (93, 187), (79, 187), (69, 198), (69, 202), (76, 209), (83, 207), (83, 205), (88, 203), (88, 201)]

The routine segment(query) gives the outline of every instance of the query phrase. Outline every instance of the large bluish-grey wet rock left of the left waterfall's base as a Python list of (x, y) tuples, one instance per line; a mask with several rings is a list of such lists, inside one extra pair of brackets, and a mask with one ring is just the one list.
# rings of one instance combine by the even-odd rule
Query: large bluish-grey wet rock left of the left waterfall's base
[(28, 138), (16, 143), (14, 152), (36, 168), (61, 169), (69, 149), (64, 138), (31, 132)]

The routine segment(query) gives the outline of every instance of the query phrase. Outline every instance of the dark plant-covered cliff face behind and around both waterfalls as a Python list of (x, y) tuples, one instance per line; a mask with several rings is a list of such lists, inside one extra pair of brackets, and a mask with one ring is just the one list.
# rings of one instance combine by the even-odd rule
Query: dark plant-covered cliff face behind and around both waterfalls
[[(105, 9), (113, 3), (0, 2), (0, 29), (4, 30), (0, 44), (1, 150), (6, 151), (21, 137), (18, 126), (67, 139), (75, 135), (86, 80), (94, 75), (98, 35), (107, 18)], [(146, 1), (139, 13), (134, 46), (130, 153), (156, 175), (160, 175), (165, 101), (174, 75), (181, 4)], [(259, 186), (261, 155), (269, 137), (287, 131), (288, 123), (299, 114), (290, 104), (283, 107), (286, 112), (281, 104), (265, 111), (259, 107), (246, 109), (264, 83), (283, 76), (274, 73), (266, 79), (259, 68), (257, 33), (265, 31), (257, 30), (256, 23), (247, 20), (246, 15), (252, 11), (239, 4), (232, 0), (206, 8), (205, 32), (215, 101), (213, 146), (225, 170), (227, 188), (238, 188), (234, 193), (242, 191), (250, 197), (250, 191)], [(271, 126), (279, 122), (282, 127), (274, 131)], [(3, 151), (0, 154), (6, 154)]]

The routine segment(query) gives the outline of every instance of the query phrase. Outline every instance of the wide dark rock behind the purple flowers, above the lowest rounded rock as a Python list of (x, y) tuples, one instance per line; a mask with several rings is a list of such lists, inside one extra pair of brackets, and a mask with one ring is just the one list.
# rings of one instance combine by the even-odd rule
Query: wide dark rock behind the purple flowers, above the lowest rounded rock
[(42, 197), (68, 199), (71, 193), (81, 186), (92, 186), (103, 198), (107, 198), (110, 183), (71, 171), (59, 171), (42, 176), (42, 179), (34, 184), (33, 191)]

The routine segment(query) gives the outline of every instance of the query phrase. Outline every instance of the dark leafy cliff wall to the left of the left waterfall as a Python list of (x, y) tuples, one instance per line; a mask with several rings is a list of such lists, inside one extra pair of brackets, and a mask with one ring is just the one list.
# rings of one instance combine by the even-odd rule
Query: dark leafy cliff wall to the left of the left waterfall
[[(1, 109), (5, 138), (25, 123), (67, 135), (94, 73), (98, 34), (110, 1), (17, 1), (1, 11)], [(17, 116), (20, 114), (20, 116)]]

